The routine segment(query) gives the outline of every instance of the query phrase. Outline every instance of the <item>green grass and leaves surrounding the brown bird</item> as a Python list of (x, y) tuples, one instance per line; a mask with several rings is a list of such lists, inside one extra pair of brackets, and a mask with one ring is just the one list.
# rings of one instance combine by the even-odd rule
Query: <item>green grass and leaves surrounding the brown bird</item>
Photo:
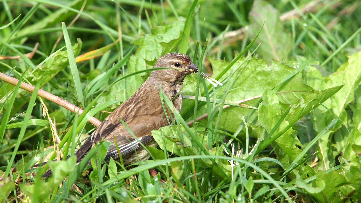
[[(0, 72), (35, 91), (0, 81), (0, 202), (358, 202), (360, 32), (352, 0), (3, 0)], [(74, 154), (90, 117), (103, 120), (169, 52), (223, 85), (187, 76), (151, 159), (101, 164), (101, 142), (78, 166), (49, 162), (48, 178), (31, 168)]]

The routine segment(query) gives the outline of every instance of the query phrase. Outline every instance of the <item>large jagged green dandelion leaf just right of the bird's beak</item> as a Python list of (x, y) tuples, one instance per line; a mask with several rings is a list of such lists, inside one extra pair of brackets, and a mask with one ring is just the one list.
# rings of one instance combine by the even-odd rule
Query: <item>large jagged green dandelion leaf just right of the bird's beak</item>
[[(216, 76), (221, 73), (223, 69), (225, 69), (230, 63), (227, 61), (215, 60), (212, 58), (209, 58), (209, 60), (213, 68), (213, 78), (216, 78)], [(240, 68), (237, 70), (238, 67)], [(234, 83), (226, 97), (226, 100), (232, 102), (237, 102), (246, 98), (252, 98), (262, 95), (266, 89), (274, 88), (280, 81), (283, 80), (283, 78), (286, 78), (293, 71), (295, 71), (295, 69), (286, 66), (280, 62), (273, 61), (271, 65), (268, 65), (268, 63), (265, 62), (263, 59), (251, 58), (248, 61), (245, 61), (244, 57), (240, 58), (232, 66), (232, 68), (235, 71), (231, 78)], [(226, 76), (227, 75), (223, 76), (220, 80), (225, 79)], [(225, 87), (222, 87), (217, 92), (222, 93), (224, 92), (224, 90)], [(303, 105), (304, 100), (302, 98), (303, 93), (301, 91), (312, 90), (313, 89), (311, 87), (304, 84), (300, 73), (285, 81), (283, 84), (278, 85), (272, 93), (277, 93), (280, 95), (280, 98), (277, 99), (280, 100), (280, 104), (278, 104), (279, 107), (277, 107), (277, 112), (280, 113), (282, 110), (284, 111), (288, 108), (288, 106), (282, 105), (282, 103), (291, 103), (295, 107), (297, 105)], [(184, 90), (184, 94), (187, 94), (186, 90)], [(191, 93), (189, 94), (192, 95)], [(293, 96), (293, 94), (296, 94), (296, 96)], [(286, 95), (287, 97), (284, 98), (284, 95)], [(291, 99), (291, 101), (288, 101), (288, 99)], [(255, 106), (258, 100), (258, 98), (253, 99), (244, 102), (243, 104)], [(271, 103), (275, 105), (274, 102)], [(229, 107), (223, 110), (220, 120), (220, 127), (227, 129), (227, 131), (234, 132), (240, 124), (241, 117), (243, 115), (247, 115), (249, 111), (249, 109), (235, 107)], [(232, 120), (234, 120), (235, 122), (229, 122), (229, 118), (232, 118)], [(256, 115), (253, 115), (250, 120), (254, 119), (256, 119)]]

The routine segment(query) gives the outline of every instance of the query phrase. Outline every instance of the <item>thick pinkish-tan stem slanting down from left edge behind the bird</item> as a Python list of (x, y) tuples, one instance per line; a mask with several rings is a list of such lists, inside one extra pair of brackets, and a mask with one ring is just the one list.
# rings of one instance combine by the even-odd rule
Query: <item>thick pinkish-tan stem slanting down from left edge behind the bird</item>
[[(14, 86), (16, 86), (18, 84), (18, 82), (19, 82), (18, 79), (15, 79), (15, 78), (13, 78), (11, 76), (3, 74), (2, 72), (0, 72), (0, 79), (4, 80), (6, 83), (12, 84)], [(21, 85), (20, 85), (20, 88), (24, 89), (24, 90), (26, 90), (28, 92), (33, 92), (35, 87), (30, 85), (30, 84), (22, 82)], [(49, 101), (52, 101), (52, 102), (64, 107), (65, 109), (68, 109), (68, 110), (73, 111), (73, 112), (78, 112), (79, 115), (82, 114), (82, 112), (84, 111), (83, 109), (79, 109), (79, 107), (77, 107), (77, 106), (63, 100), (62, 98), (60, 98), (58, 96), (55, 96), (54, 94), (46, 92), (46, 91), (44, 91), (42, 89), (38, 90), (38, 96), (43, 97), (43, 98), (45, 98), (45, 99), (47, 99)], [(89, 119), (89, 122), (92, 123), (93, 125), (95, 125), (96, 127), (98, 127), (101, 124), (100, 120), (96, 119), (95, 117), (91, 117)]]

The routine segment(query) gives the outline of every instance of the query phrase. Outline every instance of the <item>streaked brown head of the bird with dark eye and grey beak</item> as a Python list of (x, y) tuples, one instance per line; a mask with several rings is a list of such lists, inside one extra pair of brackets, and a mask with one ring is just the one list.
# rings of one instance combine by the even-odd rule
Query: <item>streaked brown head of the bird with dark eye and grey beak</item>
[(186, 54), (168, 53), (160, 57), (153, 68), (167, 67), (171, 69), (154, 70), (149, 77), (161, 79), (169, 83), (182, 83), (186, 75), (198, 72), (198, 67)]

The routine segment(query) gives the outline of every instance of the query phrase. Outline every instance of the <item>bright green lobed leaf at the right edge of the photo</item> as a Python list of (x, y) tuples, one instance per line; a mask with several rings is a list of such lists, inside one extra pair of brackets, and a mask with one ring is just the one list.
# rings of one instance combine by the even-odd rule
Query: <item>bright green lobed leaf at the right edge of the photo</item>
[[(324, 107), (317, 107), (314, 111), (311, 112), (311, 118), (313, 121), (313, 128), (316, 132), (321, 131), (326, 127), (327, 123), (330, 123), (331, 120), (335, 119), (335, 115), (338, 116), (343, 123), (348, 123), (347, 113), (345, 107), (354, 98), (354, 92), (358, 84), (361, 81), (361, 52), (352, 54), (348, 62), (344, 63), (338, 68), (333, 74), (323, 78), (319, 71), (315, 68), (309, 68), (307, 71), (307, 77), (305, 81), (307, 84), (311, 85), (314, 89), (324, 89), (335, 87), (339, 85), (344, 85), (344, 87), (332, 97), (330, 100), (327, 100), (323, 103), (327, 108), (332, 112), (325, 109)], [(334, 115), (335, 114), (335, 115)], [(356, 120), (358, 122), (358, 120)], [(342, 122), (338, 121), (334, 127), (334, 130), (340, 128)], [(359, 126), (359, 123), (355, 124)], [(323, 162), (325, 162), (325, 168), (330, 167), (331, 162), (333, 162), (331, 154), (329, 140), (331, 132), (327, 133), (321, 138), (320, 150), (322, 154)], [(348, 133), (344, 136), (349, 136)]]

